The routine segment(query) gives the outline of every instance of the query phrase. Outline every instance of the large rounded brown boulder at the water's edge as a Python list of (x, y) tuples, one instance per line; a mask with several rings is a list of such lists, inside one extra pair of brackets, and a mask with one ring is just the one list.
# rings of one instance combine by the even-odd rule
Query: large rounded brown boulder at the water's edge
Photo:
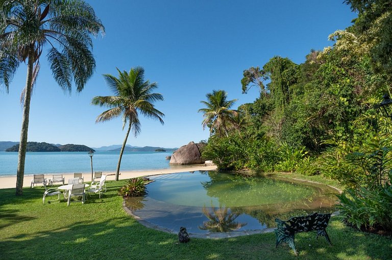
[(184, 165), (204, 163), (198, 145), (199, 144), (194, 142), (189, 142), (188, 145), (180, 147), (171, 155), (169, 164)]

